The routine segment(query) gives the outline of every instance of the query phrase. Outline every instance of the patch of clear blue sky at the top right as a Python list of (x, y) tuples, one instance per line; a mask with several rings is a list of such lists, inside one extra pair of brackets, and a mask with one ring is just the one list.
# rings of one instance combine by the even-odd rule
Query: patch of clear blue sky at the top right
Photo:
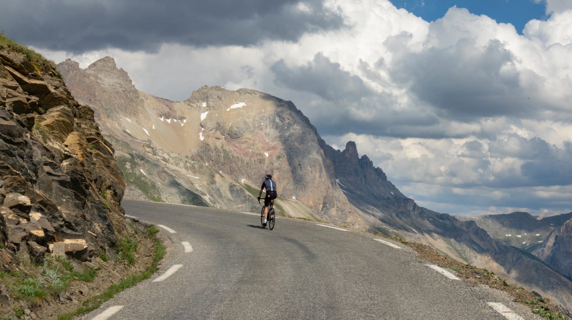
[(546, 20), (545, 3), (532, 0), (391, 0), (398, 8), (423, 18), (435, 21), (442, 18), (452, 6), (466, 8), (473, 14), (484, 14), (499, 23), (511, 23), (522, 34), (531, 19)]

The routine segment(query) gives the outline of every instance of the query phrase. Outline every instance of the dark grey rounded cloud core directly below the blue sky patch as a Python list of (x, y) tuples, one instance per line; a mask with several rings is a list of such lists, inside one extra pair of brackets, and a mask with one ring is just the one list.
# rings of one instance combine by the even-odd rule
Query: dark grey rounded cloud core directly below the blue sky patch
[(530, 117), (539, 105), (547, 105), (537, 98), (535, 87), (522, 87), (514, 59), (500, 41), (479, 47), (465, 38), (455, 46), (403, 54), (391, 75), (444, 118)]

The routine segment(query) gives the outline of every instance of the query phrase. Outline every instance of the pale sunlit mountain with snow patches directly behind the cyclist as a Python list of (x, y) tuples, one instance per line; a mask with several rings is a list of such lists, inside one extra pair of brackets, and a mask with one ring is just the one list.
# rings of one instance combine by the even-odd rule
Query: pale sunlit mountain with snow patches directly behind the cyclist
[(271, 173), (279, 210), (366, 229), (328, 171), (308, 119), (289, 101), (255, 90), (207, 87), (183, 102), (138, 91), (113, 59), (58, 65), (70, 90), (96, 111), (126, 182), (149, 198), (258, 211)]

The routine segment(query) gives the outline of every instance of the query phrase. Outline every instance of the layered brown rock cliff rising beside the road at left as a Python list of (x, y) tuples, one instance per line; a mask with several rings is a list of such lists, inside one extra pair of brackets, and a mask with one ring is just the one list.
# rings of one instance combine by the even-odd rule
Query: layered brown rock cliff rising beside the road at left
[(54, 65), (2, 47), (0, 106), (0, 269), (113, 249), (126, 233), (125, 183), (92, 109)]

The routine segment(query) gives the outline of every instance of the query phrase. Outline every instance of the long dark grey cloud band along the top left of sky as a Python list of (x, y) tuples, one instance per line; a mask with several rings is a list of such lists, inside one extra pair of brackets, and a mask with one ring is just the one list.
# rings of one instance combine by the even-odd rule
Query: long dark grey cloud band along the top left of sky
[(343, 26), (341, 17), (310, 0), (0, 0), (0, 25), (26, 45), (82, 53), (117, 47), (155, 51), (161, 43), (253, 45), (296, 41)]

